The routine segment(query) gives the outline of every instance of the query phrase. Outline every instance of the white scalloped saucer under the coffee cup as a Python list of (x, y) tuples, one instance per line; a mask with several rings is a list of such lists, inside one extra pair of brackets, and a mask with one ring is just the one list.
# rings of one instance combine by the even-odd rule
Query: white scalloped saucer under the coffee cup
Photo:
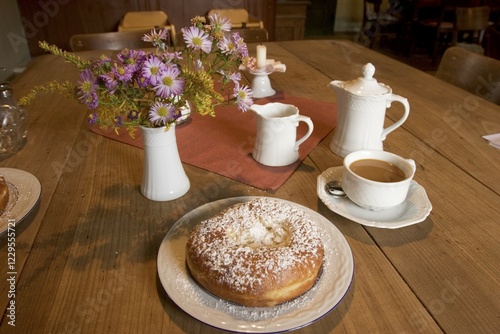
[(432, 210), (425, 189), (412, 181), (406, 200), (390, 209), (370, 211), (354, 204), (347, 197), (335, 198), (325, 192), (325, 185), (332, 180), (342, 180), (344, 167), (331, 167), (318, 176), (318, 197), (333, 212), (356, 223), (379, 228), (400, 228), (420, 223)]

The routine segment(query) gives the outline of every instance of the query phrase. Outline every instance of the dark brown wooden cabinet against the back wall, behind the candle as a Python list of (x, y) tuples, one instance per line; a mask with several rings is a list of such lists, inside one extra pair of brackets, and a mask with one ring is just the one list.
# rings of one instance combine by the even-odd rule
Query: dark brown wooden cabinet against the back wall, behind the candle
[(304, 38), (307, 6), (309, 1), (276, 2), (275, 40), (286, 41)]

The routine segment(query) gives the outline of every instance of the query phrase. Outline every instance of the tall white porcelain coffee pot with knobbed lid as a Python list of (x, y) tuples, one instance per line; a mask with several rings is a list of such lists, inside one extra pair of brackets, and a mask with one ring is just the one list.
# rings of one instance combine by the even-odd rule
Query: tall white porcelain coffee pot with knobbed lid
[[(337, 128), (330, 149), (340, 157), (359, 150), (383, 150), (386, 136), (401, 126), (410, 114), (408, 100), (392, 94), (391, 87), (373, 78), (375, 67), (363, 66), (363, 76), (351, 81), (334, 80), (331, 87), (337, 94)], [(404, 115), (384, 128), (385, 111), (392, 102), (402, 103)]]

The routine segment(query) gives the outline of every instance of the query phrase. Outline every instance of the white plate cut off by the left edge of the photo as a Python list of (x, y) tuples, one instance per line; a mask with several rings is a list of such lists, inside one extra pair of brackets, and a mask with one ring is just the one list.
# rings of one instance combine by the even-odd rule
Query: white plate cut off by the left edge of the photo
[(23, 170), (14, 168), (0, 168), (9, 187), (9, 203), (5, 212), (0, 216), (0, 235), (9, 225), (9, 220), (19, 224), (35, 207), (42, 192), (38, 179)]

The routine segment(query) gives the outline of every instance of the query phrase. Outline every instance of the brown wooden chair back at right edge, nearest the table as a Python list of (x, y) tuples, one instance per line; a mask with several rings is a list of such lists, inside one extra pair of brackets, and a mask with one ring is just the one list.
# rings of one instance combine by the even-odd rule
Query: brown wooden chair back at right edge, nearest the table
[(464, 48), (448, 48), (436, 77), (500, 105), (500, 60)]

